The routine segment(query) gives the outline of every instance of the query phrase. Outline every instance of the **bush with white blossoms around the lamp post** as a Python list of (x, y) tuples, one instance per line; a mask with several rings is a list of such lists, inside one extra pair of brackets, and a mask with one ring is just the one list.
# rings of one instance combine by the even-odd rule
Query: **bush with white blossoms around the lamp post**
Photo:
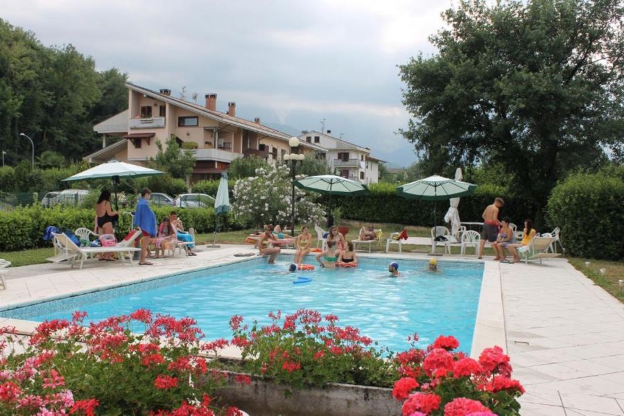
[[(304, 175), (297, 175), (301, 179)], [(256, 169), (256, 175), (236, 181), (232, 208), (249, 225), (289, 224), (291, 222), (291, 170), (280, 165)], [(295, 188), (295, 221), (321, 223), (325, 212), (313, 202), (314, 196)]]

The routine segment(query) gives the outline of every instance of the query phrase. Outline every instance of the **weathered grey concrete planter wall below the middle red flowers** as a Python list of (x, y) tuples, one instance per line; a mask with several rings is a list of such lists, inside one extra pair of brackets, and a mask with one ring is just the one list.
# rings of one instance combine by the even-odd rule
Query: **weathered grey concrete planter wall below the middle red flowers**
[[(392, 389), (363, 385), (332, 384), (327, 388), (295, 390), (252, 376), (252, 383), (236, 383), (229, 374), (229, 387), (215, 396), (238, 406), (250, 416), (392, 416), (401, 415), (401, 402)], [(286, 397), (286, 390), (291, 395)]]

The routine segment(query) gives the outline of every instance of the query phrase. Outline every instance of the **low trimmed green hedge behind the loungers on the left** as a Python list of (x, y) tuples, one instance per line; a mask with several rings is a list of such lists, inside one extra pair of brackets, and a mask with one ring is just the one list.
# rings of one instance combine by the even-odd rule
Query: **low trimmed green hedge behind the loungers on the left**
[[(169, 215), (172, 207), (153, 207), (158, 222)], [(214, 231), (214, 209), (193, 208), (175, 209), (182, 218), (184, 227), (193, 227), (196, 232)], [(0, 212), (0, 252), (24, 250), (36, 247), (49, 247), (50, 242), (43, 241), (46, 227), (54, 225), (59, 229), (75, 230), (78, 227), (93, 229), (95, 211), (73, 207), (43, 208), (17, 207), (12, 211)], [(219, 217), (220, 229), (242, 229), (243, 225), (227, 214)], [(116, 227), (117, 239), (130, 229), (130, 216), (122, 215)]]

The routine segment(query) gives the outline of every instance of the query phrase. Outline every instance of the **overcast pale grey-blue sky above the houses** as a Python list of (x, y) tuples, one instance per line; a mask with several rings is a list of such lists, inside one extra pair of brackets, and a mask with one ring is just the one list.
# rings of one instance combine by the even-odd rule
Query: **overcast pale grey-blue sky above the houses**
[(187, 99), (218, 94), (217, 109), (296, 130), (320, 130), (408, 166), (413, 146), (397, 135), (397, 64), (443, 26), (450, 0), (85, 1), (0, 0), (0, 17), (43, 44), (73, 44), (98, 69), (119, 68), (151, 89)]

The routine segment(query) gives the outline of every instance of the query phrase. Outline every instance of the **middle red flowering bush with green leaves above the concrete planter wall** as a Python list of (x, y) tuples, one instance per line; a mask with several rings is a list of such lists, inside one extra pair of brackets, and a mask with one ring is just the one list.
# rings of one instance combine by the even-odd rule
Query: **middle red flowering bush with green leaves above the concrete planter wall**
[(331, 382), (388, 386), (397, 378), (395, 366), (384, 360), (370, 338), (358, 329), (338, 327), (335, 315), (324, 317), (302, 309), (288, 315), (269, 313), (272, 324), (251, 329), (234, 316), (232, 344), (241, 347), (248, 372), (296, 388)]

